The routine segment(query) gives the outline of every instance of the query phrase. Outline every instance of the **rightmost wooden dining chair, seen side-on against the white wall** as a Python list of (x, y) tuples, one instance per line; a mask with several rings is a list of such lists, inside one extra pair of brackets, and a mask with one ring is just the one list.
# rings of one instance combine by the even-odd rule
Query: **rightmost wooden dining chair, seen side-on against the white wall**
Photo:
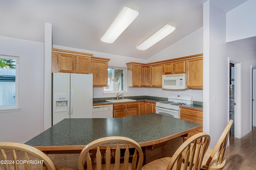
[(224, 153), (233, 120), (230, 119), (218, 139), (214, 149), (208, 148), (202, 162), (202, 169), (222, 170), (226, 163)]

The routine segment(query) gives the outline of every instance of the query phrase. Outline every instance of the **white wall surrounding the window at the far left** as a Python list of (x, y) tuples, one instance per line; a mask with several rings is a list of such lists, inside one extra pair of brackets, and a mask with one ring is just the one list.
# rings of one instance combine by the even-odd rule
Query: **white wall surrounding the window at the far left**
[(0, 142), (24, 143), (44, 130), (44, 44), (0, 36), (0, 54), (18, 56), (20, 62), (20, 111), (0, 113)]

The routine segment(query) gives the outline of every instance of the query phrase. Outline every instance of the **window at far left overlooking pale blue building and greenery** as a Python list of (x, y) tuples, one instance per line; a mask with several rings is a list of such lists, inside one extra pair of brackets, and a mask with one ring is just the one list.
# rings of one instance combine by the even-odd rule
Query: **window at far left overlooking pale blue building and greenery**
[(18, 111), (18, 63), (18, 57), (0, 55), (0, 112)]

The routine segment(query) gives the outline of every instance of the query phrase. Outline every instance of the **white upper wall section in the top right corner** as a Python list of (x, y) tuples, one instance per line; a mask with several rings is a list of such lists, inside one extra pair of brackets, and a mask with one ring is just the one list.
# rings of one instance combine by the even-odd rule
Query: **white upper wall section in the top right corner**
[(256, 36), (255, 7), (255, 0), (247, 0), (227, 13), (227, 42)]

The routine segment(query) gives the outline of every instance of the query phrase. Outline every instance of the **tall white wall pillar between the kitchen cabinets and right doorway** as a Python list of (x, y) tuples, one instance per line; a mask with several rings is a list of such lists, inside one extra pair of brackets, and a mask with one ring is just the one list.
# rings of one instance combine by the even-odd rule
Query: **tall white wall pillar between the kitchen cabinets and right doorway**
[[(206, 79), (204, 80), (203, 131), (211, 136), (211, 148), (228, 123), (227, 62), (226, 13), (208, 1), (204, 3), (204, 78)], [(214, 98), (216, 98), (215, 102)]]

